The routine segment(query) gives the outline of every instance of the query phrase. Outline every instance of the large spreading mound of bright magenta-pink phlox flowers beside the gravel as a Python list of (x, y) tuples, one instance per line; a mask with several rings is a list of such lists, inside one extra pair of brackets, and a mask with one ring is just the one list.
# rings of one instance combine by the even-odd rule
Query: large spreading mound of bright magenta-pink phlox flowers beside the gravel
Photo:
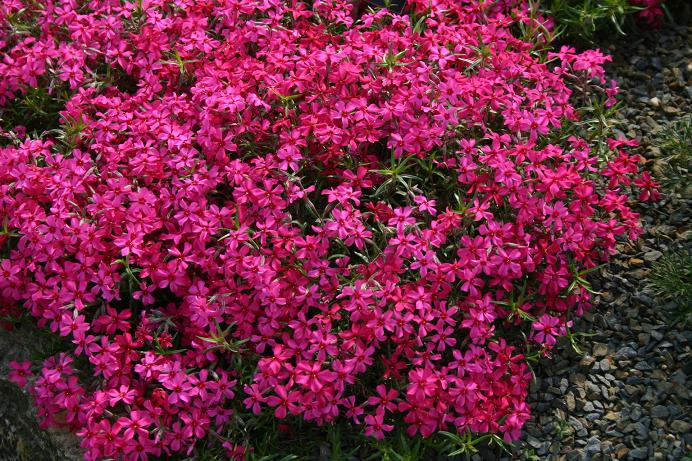
[(528, 362), (658, 195), (604, 125), (609, 57), (548, 23), (3, 2), (0, 308), (63, 338), (13, 363), (43, 426), (89, 460), (244, 459), (282, 420), (517, 439)]

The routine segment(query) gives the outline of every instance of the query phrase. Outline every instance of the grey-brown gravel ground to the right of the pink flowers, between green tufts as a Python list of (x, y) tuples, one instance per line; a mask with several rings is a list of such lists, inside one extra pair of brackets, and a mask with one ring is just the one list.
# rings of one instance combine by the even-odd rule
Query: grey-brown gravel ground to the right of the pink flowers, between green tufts
[[(692, 28), (651, 31), (604, 47), (614, 60), (624, 107), (622, 132), (659, 166), (656, 134), (692, 108)], [(692, 248), (692, 200), (664, 196), (642, 205), (646, 233), (594, 280), (594, 309), (579, 320), (583, 355), (562, 343), (536, 368), (534, 417), (518, 459), (679, 460), (692, 453), (692, 331), (673, 305), (646, 288), (652, 263)], [(689, 459), (692, 459), (689, 458)]]

